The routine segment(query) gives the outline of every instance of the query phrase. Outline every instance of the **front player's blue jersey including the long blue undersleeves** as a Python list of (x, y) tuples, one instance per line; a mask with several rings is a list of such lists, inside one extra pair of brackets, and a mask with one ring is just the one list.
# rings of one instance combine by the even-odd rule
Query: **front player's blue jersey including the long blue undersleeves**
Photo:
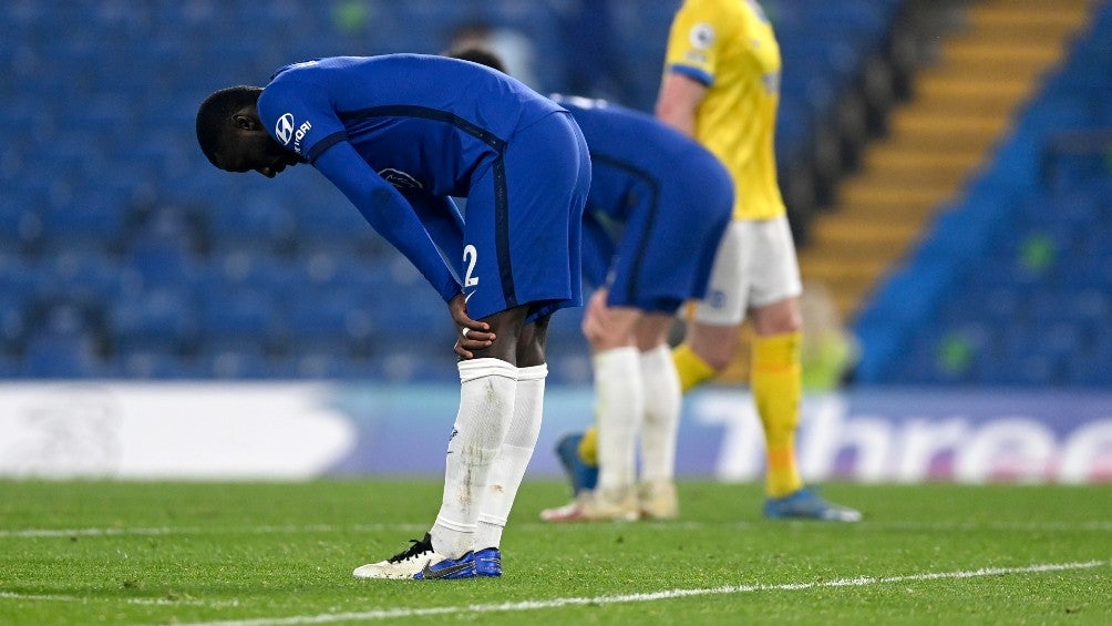
[(258, 111), (268, 132), (336, 185), (447, 300), (460, 290), (460, 268), (440, 250), (453, 237), (457, 249), (446, 252), (463, 247), (450, 197), (489, 179), (515, 132), (564, 110), (476, 63), (388, 54), (286, 66)]

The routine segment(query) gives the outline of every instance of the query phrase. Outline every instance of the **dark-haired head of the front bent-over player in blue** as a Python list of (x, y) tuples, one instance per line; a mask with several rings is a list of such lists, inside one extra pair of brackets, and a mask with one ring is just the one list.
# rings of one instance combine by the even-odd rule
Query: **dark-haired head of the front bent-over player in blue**
[(300, 162), (262, 128), (259, 87), (229, 87), (214, 92), (197, 110), (197, 142), (214, 166), (226, 171), (257, 171), (274, 178)]

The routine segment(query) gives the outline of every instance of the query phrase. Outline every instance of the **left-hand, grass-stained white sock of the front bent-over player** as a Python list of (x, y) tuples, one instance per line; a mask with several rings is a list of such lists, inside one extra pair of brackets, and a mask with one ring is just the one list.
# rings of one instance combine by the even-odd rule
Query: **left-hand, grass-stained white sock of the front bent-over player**
[(444, 499), (433, 525), (433, 549), (459, 558), (475, 547), (475, 529), (498, 447), (514, 416), (517, 368), (500, 359), (459, 361), (459, 413), (448, 440)]

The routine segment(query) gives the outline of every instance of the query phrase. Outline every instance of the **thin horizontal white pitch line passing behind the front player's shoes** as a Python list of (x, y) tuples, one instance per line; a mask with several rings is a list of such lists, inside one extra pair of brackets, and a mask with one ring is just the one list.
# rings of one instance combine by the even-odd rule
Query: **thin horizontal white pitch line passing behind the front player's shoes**
[[(662, 531), (688, 531), (704, 530), (713, 528), (757, 528), (764, 523), (754, 521), (731, 521), (724, 524), (713, 524), (703, 521), (664, 521), (641, 525), (641, 528), (648, 528)], [(777, 523), (784, 524), (784, 523)], [(969, 530), (1001, 530), (1001, 531), (1037, 531), (1037, 533), (1064, 533), (1064, 531), (1110, 531), (1112, 520), (1083, 521), (1083, 523), (971, 523), (962, 521), (954, 524), (917, 524), (914, 521), (887, 521), (871, 523), (863, 521), (853, 525), (826, 525), (814, 521), (792, 521), (787, 523), (797, 528), (844, 528), (860, 530), (932, 530), (932, 531), (960, 531)], [(622, 527), (620, 523), (613, 525), (615, 528)], [(526, 521), (515, 524), (514, 528), (523, 530), (554, 530), (557, 528), (576, 528), (574, 524), (553, 525), (539, 521)], [(49, 537), (121, 537), (121, 536), (168, 536), (168, 535), (294, 535), (299, 533), (416, 533), (427, 530), (427, 525), (421, 524), (355, 524), (350, 526), (314, 524), (307, 526), (245, 526), (241, 528), (207, 528), (202, 526), (188, 527), (105, 527), (105, 528), (22, 528), (16, 530), (0, 530), (0, 539), (19, 538), (49, 538)]]

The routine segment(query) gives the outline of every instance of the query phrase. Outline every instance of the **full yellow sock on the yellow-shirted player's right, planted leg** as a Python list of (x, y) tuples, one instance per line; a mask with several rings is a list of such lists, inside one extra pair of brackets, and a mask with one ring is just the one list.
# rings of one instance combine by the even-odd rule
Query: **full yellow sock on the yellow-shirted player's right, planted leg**
[(751, 385), (767, 446), (765, 490), (774, 498), (803, 487), (795, 463), (795, 428), (803, 395), (800, 339), (800, 332), (788, 332), (753, 340)]

